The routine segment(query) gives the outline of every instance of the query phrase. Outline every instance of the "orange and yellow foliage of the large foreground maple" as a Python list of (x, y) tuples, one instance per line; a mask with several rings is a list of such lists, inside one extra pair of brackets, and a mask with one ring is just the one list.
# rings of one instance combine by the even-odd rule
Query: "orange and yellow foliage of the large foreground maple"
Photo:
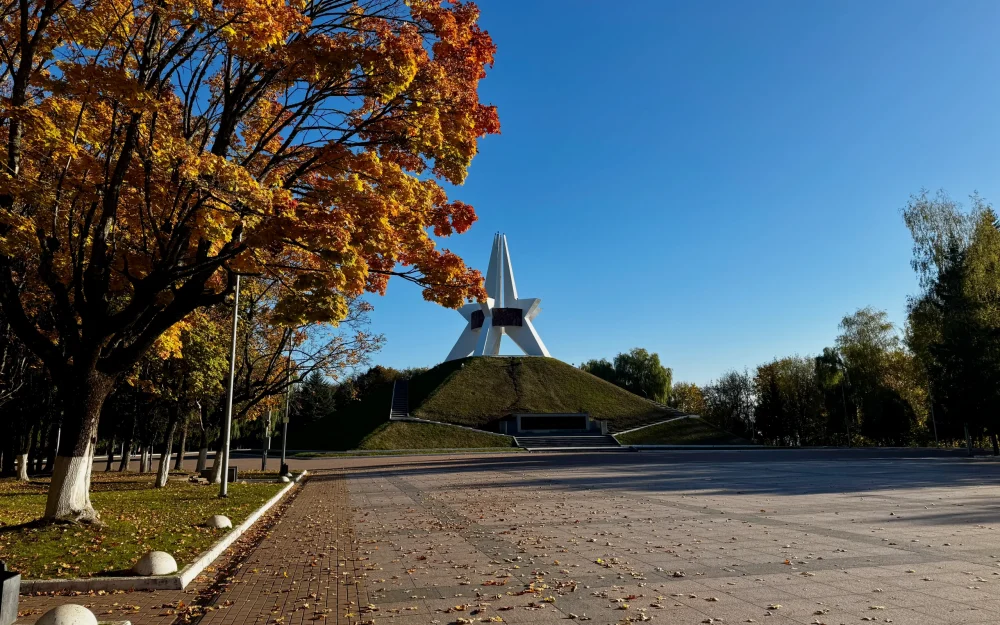
[[(175, 293), (192, 275), (193, 292), (213, 300), (232, 271), (292, 285), (274, 316), (290, 324), (340, 321), (352, 298), (384, 293), (399, 266), (429, 301), (457, 307), (484, 297), (479, 272), (437, 241), (467, 230), (475, 211), (433, 179), (464, 179), (476, 139), (499, 130), (477, 93), (494, 52), (478, 12), (418, 1), (389, 19), (356, 5), (314, 28), (304, 6), (94, 0), (67, 5), (42, 33), (54, 69), (32, 76), (29, 106), (3, 111), (24, 125), (24, 159), (0, 176), (15, 203), (0, 215), (0, 253), (25, 260), (26, 297), (39, 310), (51, 304), (51, 276), (78, 280), (104, 237), (112, 277), (109, 292), (93, 296), (116, 312), (150, 276), (166, 277), (149, 300), (159, 308), (180, 301)], [(166, 18), (159, 39), (147, 30), (154, 7)], [(198, 34), (181, 37), (189, 26)], [(155, 69), (140, 69), (137, 41), (157, 51)], [(223, 57), (261, 68), (252, 97), (218, 71)], [(178, 69), (189, 60), (212, 69)], [(315, 102), (301, 106), (304, 94)], [(108, 189), (118, 188), (113, 172), (122, 174), (120, 195), (102, 225), (105, 198), (115, 197)], [(244, 249), (234, 257), (238, 230)], [(46, 237), (58, 245), (43, 269)], [(72, 286), (75, 298), (83, 289)], [(153, 353), (217, 361), (196, 334), (172, 327)], [(208, 377), (191, 384), (207, 389)]]

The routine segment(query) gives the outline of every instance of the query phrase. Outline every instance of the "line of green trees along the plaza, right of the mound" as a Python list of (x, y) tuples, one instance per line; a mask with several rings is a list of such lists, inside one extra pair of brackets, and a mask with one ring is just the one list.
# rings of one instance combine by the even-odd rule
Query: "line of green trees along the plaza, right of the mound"
[(699, 386), (671, 383), (636, 348), (581, 368), (633, 393), (702, 415), (769, 445), (984, 445), (1000, 453), (1000, 220), (973, 195), (910, 197), (918, 292), (902, 328), (884, 310), (845, 315), (811, 356), (731, 369)]

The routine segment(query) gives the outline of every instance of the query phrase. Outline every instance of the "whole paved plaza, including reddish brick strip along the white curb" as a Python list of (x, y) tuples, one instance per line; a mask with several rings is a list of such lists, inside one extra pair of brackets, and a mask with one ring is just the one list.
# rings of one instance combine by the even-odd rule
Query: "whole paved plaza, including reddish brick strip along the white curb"
[[(992, 459), (776, 451), (297, 464), (313, 477), (259, 544), (231, 556), (221, 582), (88, 601), (98, 612), (141, 605), (137, 625), (1000, 622)], [(212, 609), (181, 619), (159, 607), (179, 600)]]

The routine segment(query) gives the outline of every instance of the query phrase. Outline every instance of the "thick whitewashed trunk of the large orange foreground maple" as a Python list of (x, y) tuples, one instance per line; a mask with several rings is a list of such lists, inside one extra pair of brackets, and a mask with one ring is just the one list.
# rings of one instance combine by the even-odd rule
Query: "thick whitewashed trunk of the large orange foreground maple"
[(63, 428), (45, 504), (45, 518), (49, 520), (100, 521), (90, 503), (90, 473), (101, 407), (115, 379), (93, 368), (81, 373), (72, 376), (73, 381), (60, 389)]

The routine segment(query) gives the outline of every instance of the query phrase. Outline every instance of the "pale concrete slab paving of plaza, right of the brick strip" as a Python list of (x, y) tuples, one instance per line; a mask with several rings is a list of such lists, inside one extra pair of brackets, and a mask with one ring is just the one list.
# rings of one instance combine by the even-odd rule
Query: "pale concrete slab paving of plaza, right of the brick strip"
[(998, 463), (560, 454), (340, 466), (352, 505), (377, 510), (356, 531), (393, 553), (381, 570), (414, 595), (451, 595), (425, 599), (423, 622), (464, 622), (474, 604), (460, 601), (508, 623), (1000, 620)]

